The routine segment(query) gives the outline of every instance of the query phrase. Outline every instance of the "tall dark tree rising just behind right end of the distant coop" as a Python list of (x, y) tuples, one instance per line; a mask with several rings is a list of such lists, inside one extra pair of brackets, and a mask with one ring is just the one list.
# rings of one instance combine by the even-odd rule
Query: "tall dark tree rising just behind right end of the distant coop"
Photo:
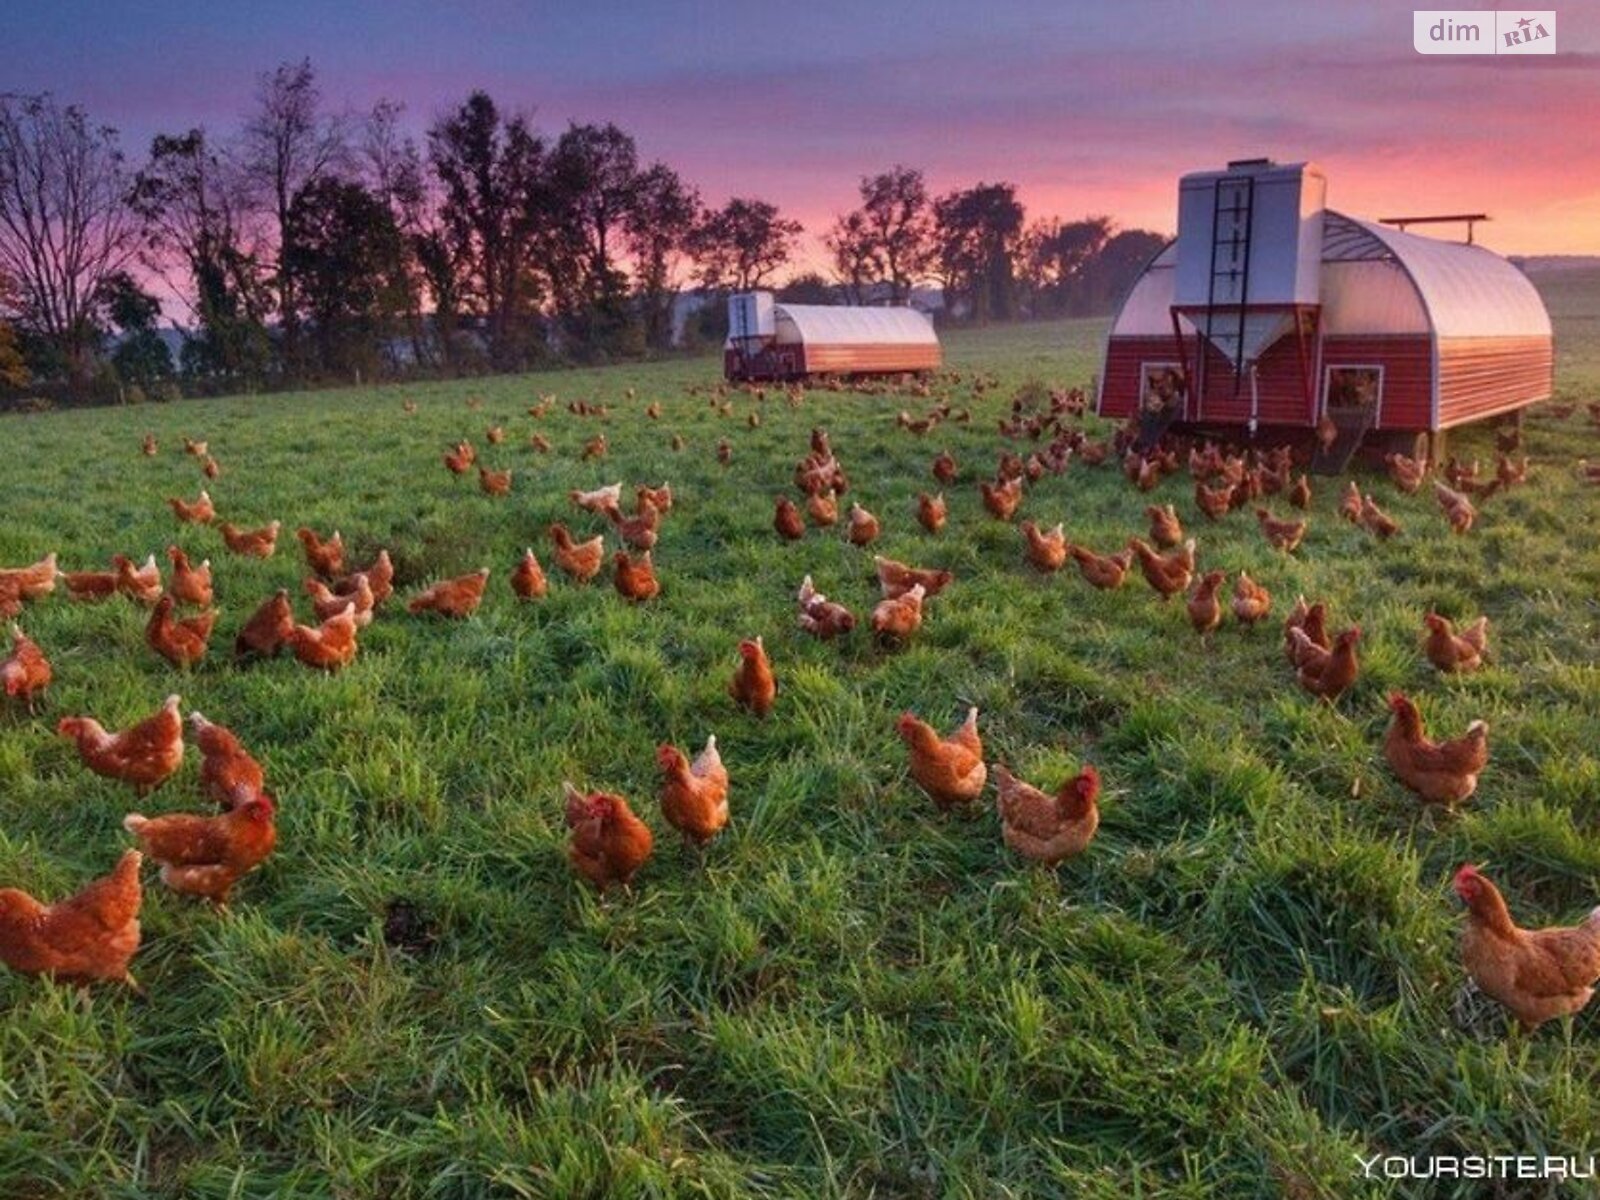
[(934, 245), (946, 302), (986, 325), (1016, 310), (1016, 253), (1024, 211), (1013, 184), (976, 184), (939, 197)]

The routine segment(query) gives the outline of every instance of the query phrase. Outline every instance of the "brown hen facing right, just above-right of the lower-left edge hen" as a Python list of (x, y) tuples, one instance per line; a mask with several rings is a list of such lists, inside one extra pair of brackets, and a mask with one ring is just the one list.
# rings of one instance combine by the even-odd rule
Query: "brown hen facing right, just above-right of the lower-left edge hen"
[(227, 904), (234, 885), (261, 866), (278, 843), (275, 808), (266, 792), (216, 814), (128, 813), (122, 827), (162, 864), (162, 883), (219, 907)]

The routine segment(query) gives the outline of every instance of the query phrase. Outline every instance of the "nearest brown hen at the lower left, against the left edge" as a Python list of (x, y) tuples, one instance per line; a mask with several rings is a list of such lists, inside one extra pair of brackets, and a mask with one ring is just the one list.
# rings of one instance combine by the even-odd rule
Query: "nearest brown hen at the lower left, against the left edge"
[(0, 962), (21, 974), (120, 982), (138, 990), (128, 963), (139, 950), (142, 862), (138, 850), (128, 850), (109, 875), (54, 904), (0, 888)]

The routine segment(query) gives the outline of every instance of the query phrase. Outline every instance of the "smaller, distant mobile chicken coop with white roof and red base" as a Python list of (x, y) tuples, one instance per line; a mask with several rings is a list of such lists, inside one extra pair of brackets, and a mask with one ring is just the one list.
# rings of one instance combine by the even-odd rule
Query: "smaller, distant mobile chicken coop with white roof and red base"
[(917, 309), (779, 304), (770, 291), (728, 298), (728, 379), (936, 371), (939, 336)]

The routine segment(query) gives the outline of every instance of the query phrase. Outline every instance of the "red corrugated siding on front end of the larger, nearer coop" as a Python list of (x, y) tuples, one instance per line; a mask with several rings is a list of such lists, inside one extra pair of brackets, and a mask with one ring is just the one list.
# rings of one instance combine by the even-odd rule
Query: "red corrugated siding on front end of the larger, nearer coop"
[[(1186, 339), (1190, 370), (1194, 370), (1195, 339)], [(1307, 344), (1315, 355), (1315, 344)], [(1139, 400), (1139, 370), (1144, 363), (1168, 363), (1176, 358), (1171, 338), (1112, 338), (1106, 350), (1106, 379), (1101, 392), (1101, 414), (1125, 418), (1134, 411)], [(1432, 344), (1426, 334), (1400, 334), (1394, 338), (1323, 338), (1322, 366), (1317, 370), (1317, 403), (1322, 403), (1323, 373), (1328, 366), (1384, 368), (1382, 429), (1427, 429), (1432, 408)], [(1315, 366), (1315, 363), (1314, 363)], [(1240, 387), (1234, 397), (1234, 373), (1227, 362), (1213, 350), (1208, 357), (1208, 384), (1198, 419), (1243, 424), (1250, 419), (1250, 386)], [(1310, 426), (1306, 395), (1301, 390), (1299, 355), (1293, 338), (1285, 338), (1266, 355), (1258, 371), (1261, 398), (1259, 421), (1274, 426)], [(1195, 419), (1190, 403), (1187, 418)]]

